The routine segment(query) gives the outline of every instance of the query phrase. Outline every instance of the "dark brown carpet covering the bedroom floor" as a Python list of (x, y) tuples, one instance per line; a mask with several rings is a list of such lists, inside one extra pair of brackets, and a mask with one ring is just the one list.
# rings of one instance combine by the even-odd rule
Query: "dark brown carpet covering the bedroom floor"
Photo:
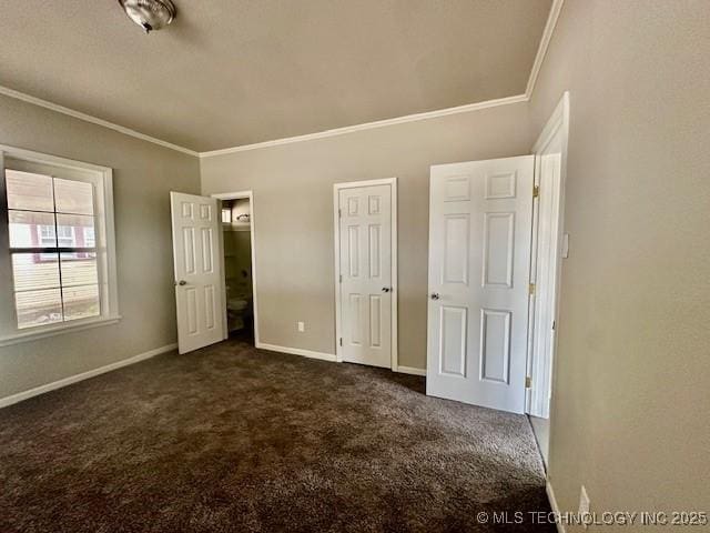
[(0, 410), (2, 533), (555, 531), (528, 511), (549, 506), (525, 416), (239, 341)]

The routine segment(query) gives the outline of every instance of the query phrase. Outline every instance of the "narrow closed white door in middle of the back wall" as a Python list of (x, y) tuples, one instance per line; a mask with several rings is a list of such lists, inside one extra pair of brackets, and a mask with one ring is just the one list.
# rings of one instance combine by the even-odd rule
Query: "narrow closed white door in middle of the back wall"
[(392, 364), (392, 185), (341, 189), (339, 315), (343, 361)]

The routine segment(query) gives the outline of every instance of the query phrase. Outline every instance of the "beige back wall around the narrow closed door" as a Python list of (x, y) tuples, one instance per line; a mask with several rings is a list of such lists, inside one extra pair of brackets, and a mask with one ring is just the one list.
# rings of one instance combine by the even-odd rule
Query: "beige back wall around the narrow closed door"
[(261, 341), (335, 353), (333, 183), (397, 177), (399, 364), (425, 368), (429, 165), (528, 153), (527, 125), (511, 104), (201, 160), (203, 193), (254, 191)]

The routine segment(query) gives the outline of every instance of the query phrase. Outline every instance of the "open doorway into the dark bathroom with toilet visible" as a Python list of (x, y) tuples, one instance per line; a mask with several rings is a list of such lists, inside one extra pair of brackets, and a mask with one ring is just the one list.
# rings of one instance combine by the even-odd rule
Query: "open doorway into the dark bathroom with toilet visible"
[(255, 345), (254, 210), (251, 191), (214, 194), (221, 201), (225, 338)]

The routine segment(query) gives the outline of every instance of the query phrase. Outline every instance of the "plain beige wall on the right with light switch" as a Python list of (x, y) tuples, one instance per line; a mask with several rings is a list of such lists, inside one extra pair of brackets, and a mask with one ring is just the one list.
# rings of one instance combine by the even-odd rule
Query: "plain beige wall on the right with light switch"
[(532, 137), (571, 101), (562, 510), (710, 511), (709, 58), (710, 2), (567, 0), (532, 94)]

